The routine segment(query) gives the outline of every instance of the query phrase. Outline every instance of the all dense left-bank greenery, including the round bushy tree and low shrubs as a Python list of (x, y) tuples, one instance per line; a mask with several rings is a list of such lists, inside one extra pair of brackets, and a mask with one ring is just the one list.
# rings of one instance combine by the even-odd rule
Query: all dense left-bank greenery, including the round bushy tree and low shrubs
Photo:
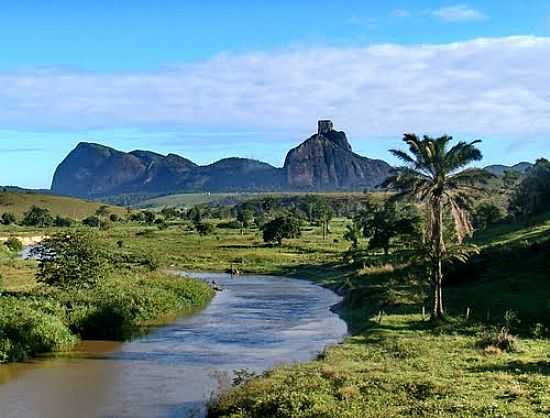
[(125, 339), (213, 296), (204, 282), (152, 272), (158, 265), (150, 257), (110, 247), (108, 237), (79, 230), (42, 241), (39, 261), (6, 247), (0, 363), (65, 350), (78, 338)]

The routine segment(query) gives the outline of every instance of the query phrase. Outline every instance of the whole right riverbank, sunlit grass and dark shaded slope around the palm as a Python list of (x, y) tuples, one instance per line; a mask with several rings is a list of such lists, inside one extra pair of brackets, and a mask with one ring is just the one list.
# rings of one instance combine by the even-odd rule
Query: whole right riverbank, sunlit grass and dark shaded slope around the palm
[(279, 266), (345, 295), (352, 336), (239, 384), (209, 416), (548, 416), (547, 233), (548, 222), (480, 237), (482, 254), (458, 272), (469, 280), (450, 276), (443, 324), (422, 315), (425, 283), (398, 260)]

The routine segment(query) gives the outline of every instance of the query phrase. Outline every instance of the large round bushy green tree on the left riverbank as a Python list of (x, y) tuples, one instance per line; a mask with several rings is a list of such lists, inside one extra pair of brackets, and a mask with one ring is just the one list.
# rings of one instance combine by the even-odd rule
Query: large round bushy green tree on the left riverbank
[(91, 288), (110, 272), (105, 243), (92, 232), (74, 231), (45, 239), (31, 253), (39, 260), (37, 279), (51, 286)]

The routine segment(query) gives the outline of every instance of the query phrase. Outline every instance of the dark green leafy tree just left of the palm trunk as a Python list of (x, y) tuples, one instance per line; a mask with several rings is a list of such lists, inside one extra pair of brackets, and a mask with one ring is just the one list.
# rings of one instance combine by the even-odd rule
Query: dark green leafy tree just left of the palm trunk
[(369, 248), (381, 248), (388, 255), (393, 240), (419, 235), (420, 217), (414, 208), (398, 207), (395, 201), (390, 200), (382, 207), (362, 211), (354, 223), (369, 240)]

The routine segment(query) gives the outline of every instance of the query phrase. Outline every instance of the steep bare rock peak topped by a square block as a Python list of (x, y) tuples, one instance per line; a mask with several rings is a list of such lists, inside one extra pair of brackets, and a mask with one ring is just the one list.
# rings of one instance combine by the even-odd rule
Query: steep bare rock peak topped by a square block
[(290, 150), (285, 160), (288, 186), (299, 190), (373, 188), (391, 166), (355, 154), (344, 132), (319, 122), (317, 134)]

